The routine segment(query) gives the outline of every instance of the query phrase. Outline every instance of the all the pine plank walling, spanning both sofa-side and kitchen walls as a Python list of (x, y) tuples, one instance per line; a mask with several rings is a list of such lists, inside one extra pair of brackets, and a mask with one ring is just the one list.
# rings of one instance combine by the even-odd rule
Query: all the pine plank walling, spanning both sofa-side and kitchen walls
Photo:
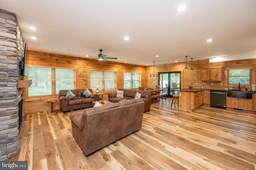
[[(29, 66), (47, 66), (47, 67), (58, 67), (58, 68), (76, 68), (76, 88), (84, 89), (89, 86), (90, 70), (115, 70), (117, 72), (117, 88), (124, 87), (124, 72), (139, 72), (141, 73), (141, 86), (145, 88), (155, 88), (155, 85), (158, 85), (158, 78), (150, 78), (149, 75), (153, 74), (153, 66), (138, 66), (133, 64), (123, 64), (123, 63), (114, 63), (114, 62), (103, 62), (95, 59), (85, 59), (79, 57), (71, 57), (66, 55), (56, 55), (49, 53), (42, 53), (36, 51), (30, 51)], [(191, 61), (187, 63), (188, 68), (190, 69)], [(180, 71), (181, 72), (181, 87), (199, 89), (202, 87), (203, 82), (200, 80), (201, 77), (201, 68), (212, 67), (212, 66), (222, 66), (222, 81), (221, 82), (205, 82), (206, 89), (219, 89), (224, 90), (230, 86), (225, 86), (225, 68), (234, 67), (238, 68), (240, 66), (253, 67), (252, 72), (252, 81), (253, 84), (256, 84), (256, 59), (248, 60), (239, 60), (239, 61), (226, 61), (218, 63), (209, 63), (209, 60), (199, 60), (193, 61), (192, 67), (193, 71), (184, 70), (186, 67), (186, 62), (181, 63), (169, 63), (169, 64), (157, 64), (155, 65), (155, 74), (158, 72), (172, 72)], [(196, 84), (197, 83), (197, 84)], [(213, 83), (213, 85), (212, 85)], [(223, 85), (221, 85), (221, 83)], [(234, 88), (237, 88), (234, 86)], [(251, 87), (248, 86), (248, 90), (251, 90)], [(104, 99), (108, 99), (108, 92), (104, 93)], [(44, 102), (48, 98), (58, 98), (58, 95), (50, 96), (41, 96), (41, 97), (29, 97), (25, 98), (24, 111), (25, 114), (34, 113), (41, 110), (50, 110), (50, 104)], [(59, 109), (59, 103), (54, 103), (54, 109)]]

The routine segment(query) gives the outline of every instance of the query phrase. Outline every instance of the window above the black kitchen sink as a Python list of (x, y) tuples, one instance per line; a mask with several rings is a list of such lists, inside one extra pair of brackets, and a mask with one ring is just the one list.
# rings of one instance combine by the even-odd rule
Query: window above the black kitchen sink
[(227, 69), (228, 84), (252, 84), (252, 68)]

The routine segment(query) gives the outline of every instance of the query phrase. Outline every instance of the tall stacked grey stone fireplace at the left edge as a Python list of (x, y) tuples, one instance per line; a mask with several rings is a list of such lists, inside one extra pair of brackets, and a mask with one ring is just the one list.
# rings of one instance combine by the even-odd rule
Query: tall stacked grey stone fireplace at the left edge
[(23, 80), (19, 66), (23, 55), (16, 15), (0, 9), (0, 160), (15, 156), (19, 149), (19, 120), (24, 125), (24, 88), (16, 85), (17, 80)]

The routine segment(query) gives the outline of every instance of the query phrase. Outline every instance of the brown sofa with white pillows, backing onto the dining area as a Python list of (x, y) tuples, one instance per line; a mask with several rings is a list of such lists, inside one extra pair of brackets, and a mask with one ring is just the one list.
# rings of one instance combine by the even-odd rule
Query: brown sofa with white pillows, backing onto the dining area
[(120, 91), (124, 91), (124, 98), (117, 98), (116, 93), (110, 93), (108, 94), (108, 101), (110, 102), (120, 102), (122, 100), (131, 100), (135, 98), (136, 92), (141, 94), (140, 99), (145, 103), (144, 105), (144, 112), (150, 110), (151, 105), (151, 93), (147, 91), (141, 91), (141, 90), (129, 90), (120, 88), (118, 89)]

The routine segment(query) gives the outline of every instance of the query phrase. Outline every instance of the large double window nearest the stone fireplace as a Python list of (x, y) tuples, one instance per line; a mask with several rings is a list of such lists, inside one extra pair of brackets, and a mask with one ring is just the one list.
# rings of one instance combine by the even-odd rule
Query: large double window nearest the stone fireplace
[(74, 69), (28, 67), (28, 79), (32, 80), (32, 85), (27, 95), (53, 95), (60, 90), (75, 89), (75, 75)]

